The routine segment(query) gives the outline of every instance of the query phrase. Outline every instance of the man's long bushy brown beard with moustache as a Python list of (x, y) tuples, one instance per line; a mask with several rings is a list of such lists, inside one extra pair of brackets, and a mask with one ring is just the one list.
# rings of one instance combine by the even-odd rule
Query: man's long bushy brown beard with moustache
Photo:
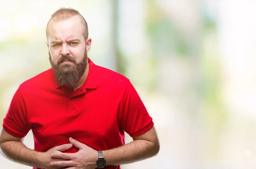
[[(55, 74), (56, 83), (58, 85), (74, 87), (77, 85), (79, 79), (83, 76), (87, 67), (87, 51), (84, 52), (84, 57), (79, 63), (77, 63), (73, 57), (66, 55), (61, 56), (55, 65), (52, 62), (50, 52), (49, 61)], [(61, 64), (64, 61), (70, 61), (73, 63)]]

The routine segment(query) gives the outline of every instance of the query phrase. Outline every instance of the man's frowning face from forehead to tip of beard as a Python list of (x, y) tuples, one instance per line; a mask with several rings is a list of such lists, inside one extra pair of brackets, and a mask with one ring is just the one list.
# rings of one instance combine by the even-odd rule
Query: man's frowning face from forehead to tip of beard
[(49, 61), (59, 85), (75, 86), (87, 66), (87, 42), (78, 16), (50, 21), (48, 25)]

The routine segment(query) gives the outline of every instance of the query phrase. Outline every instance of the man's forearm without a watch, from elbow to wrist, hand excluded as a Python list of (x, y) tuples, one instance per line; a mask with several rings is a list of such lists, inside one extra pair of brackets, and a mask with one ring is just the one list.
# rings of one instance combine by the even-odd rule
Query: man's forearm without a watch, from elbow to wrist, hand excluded
[(41, 152), (27, 148), (19, 141), (6, 141), (1, 144), (0, 152), (6, 158), (27, 166), (40, 168), (41, 162), (39, 157)]

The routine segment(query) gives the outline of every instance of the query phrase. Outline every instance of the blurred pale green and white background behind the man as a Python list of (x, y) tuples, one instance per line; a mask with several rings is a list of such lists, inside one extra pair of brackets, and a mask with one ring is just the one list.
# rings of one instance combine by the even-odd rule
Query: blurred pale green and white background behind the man
[[(0, 6), (0, 124), (17, 87), (50, 68), (50, 16), (72, 7), (87, 20), (90, 59), (131, 80), (159, 135), (157, 156), (122, 169), (255, 169), (255, 6), (254, 0), (8, 0)], [(33, 149), (31, 132), (25, 144)], [(0, 156), (0, 169), (31, 167)]]

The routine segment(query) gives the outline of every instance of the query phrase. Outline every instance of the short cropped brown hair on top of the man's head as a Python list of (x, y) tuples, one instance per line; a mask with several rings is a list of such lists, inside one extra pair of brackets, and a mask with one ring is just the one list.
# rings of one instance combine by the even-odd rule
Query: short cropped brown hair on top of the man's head
[[(70, 17), (76, 16), (78, 15), (81, 19), (81, 23), (84, 25), (84, 39), (86, 40), (88, 38), (88, 25), (86, 20), (84, 19), (84, 17), (79, 13), (79, 11), (73, 9), (73, 8), (60, 8), (57, 11), (55, 11), (52, 16), (51, 19), (49, 20), (49, 22), (52, 20), (54, 21), (59, 21), (59, 20), (66, 20)], [(46, 27), (46, 36), (48, 34), (48, 25), (49, 22), (47, 23), (47, 27)]]

